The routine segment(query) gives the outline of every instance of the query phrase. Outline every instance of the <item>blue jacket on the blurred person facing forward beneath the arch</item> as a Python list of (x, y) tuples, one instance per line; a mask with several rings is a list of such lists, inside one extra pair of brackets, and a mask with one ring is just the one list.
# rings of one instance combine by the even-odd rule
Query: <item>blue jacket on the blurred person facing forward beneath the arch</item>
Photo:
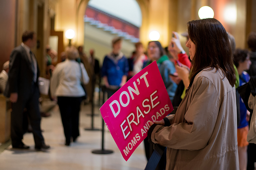
[(128, 60), (123, 53), (116, 57), (114, 57), (113, 53), (110, 53), (105, 56), (101, 71), (102, 77), (108, 77), (109, 85), (120, 86), (123, 75), (128, 75)]

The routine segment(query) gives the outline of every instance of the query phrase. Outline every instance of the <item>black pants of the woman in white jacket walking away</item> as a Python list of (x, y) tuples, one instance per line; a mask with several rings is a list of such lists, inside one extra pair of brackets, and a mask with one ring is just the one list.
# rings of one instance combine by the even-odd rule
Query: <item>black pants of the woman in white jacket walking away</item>
[(70, 138), (79, 136), (79, 111), (82, 97), (58, 97), (58, 105), (63, 124), (66, 143), (70, 143)]

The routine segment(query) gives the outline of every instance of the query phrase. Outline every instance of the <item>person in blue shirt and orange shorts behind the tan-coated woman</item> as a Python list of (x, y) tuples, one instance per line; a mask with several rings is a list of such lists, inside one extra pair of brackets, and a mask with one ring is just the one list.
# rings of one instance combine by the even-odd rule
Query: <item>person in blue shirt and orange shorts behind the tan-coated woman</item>
[[(247, 50), (236, 49), (234, 54), (234, 64), (237, 68), (239, 74), (239, 86), (244, 85), (250, 80), (250, 76), (245, 70), (248, 70), (251, 65), (249, 58), (249, 53)], [(247, 168), (247, 134), (249, 131), (249, 117), (250, 112), (246, 109), (244, 101), (239, 96), (240, 101), (240, 122), (237, 127), (237, 147), (238, 147), (238, 157), (239, 157), (239, 169), (246, 170)]]

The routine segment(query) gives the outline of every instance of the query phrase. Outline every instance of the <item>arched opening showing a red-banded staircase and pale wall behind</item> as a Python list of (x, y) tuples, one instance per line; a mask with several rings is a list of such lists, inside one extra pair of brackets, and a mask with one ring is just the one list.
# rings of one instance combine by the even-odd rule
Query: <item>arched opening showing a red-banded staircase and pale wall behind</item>
[(98, 59), (111, 52), (111, 40), (123, 37), (122, 52), (129, 57), (139, 41), (142, 15), (136, 0), (90, 0), (84, 15), (84, 50), (95, 49)]

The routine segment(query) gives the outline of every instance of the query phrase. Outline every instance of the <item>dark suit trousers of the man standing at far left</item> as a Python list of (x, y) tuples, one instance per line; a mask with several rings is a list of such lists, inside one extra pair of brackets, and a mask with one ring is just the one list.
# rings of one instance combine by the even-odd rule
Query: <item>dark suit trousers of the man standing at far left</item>
[(23, 114), (27, 108), (27, 114), (33, 129), (35, 146), (44, 144), (44, 137), (40, 128), (41, 115), (39, 111), (39, 89), (33, 84), (29, 94), (19, 94), (16, 103), (12, 103), (11, 114), (11, 138), (12, 146), (17, 147), (22, 144), (23, 139)]

